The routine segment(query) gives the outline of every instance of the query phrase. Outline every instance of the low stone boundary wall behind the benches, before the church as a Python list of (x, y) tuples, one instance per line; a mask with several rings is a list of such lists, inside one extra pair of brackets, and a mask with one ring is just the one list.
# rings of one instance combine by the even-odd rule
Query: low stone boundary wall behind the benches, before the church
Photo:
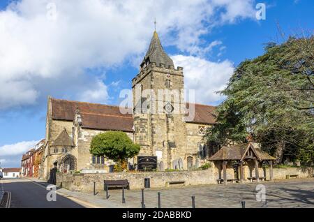
[[(299, 175), (299, 178), (313, 177), (313, 168), (274, 168), (274, 179), (285, 179), (286, 175)], [(92, 192), (94, 182), (96, 191), (103, 190), (103, 181), (128, 179), (130, 189), (144, 188), (144, 178), (150, 178), (151, 188), (164, 188), (167, 182), (185, 181), (185, 186), (217, 184), (218, 169), (176, 172), (114, 172), (95, 174), (61, 174), (57, 173), (57, 185), (70, 191)], [(267, 169), (267, 179), (269, 170)], [(245, 181), (248, 182), (248, 181)], [(175, 185), (173, 185), (175, 186)]]

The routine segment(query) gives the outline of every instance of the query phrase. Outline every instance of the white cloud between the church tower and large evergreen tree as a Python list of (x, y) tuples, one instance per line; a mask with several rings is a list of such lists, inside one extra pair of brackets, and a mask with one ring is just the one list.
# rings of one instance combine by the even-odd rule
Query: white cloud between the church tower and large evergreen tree
[(193, 56), (175, 55), (175, 66), (184, 67), (186, 89), (195, 89), (195, 102), (204, 104), (218, 103), (223, 99), (216, 94), (225, 88), (234, 67), (230, 61), (212, 62)]

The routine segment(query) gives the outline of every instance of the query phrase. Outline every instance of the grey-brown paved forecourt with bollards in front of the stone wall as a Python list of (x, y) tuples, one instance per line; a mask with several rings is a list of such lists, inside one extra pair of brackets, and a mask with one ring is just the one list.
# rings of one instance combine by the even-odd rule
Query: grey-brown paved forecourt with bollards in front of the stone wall
[[(24, 181), (26, 180), (24, 179)], [(38, 179), (31, 179), (30, 183), (47, 186), (47, 183)], [(60, 198), (67, 198), (84, 205), (84, 207), (142, 207), (141, 191), (125, 190), (126, 203), (122, 203), (122, 191), (119, 189), (110, 190), (109, 199), (105, 198), (104, 191), (97, 192), (97, 195), (93, 195), (93, 193), (68, 191), (65, 188), (57, 189)], [(246, 208), (314, 208), (313, 178), (285, 179), (276, 182), (260, 182), (259, 184), (229, 184), (227, 186), (212, 184), (179, 188), (149, 188), (144, 190), (144, 204), (147, 208), (158, 207), (158, 192), (160, 192), (162, 208), (190, 208), (192, 207), (192, 196), (195, 196), (195, 207), (197, 208), (240, 208), (241, 201), (246, 202)], [(47, 202), (47, 200), (44, 201)]]

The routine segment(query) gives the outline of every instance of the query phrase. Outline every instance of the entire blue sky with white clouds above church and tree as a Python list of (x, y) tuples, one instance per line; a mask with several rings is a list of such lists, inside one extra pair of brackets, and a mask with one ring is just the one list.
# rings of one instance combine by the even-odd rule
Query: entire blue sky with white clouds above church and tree
[(254, 0), (0, 0), (0, 162), (20, 165), (45, 137), (47, 96), (119, 104), (157, 31), (183, 66), (196, 102), (217, 105), (235, 66), (312, 29), (313, 1), (269, 0), (266, 20)]

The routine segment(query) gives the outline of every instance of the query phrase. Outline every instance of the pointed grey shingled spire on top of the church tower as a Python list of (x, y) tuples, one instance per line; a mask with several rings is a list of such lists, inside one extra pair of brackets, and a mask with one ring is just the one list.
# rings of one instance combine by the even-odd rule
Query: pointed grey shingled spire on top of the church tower
[(170, 59), (170, 57), (163, 50), (163, 46), (160, 43), (156, 31), (154, 31), (153, 38), (151, 38), (151, 44), (149, 45), (149, 50), (142, 61), (141, 68), (152, 62), (156, 63), (156, 66), (164, 64), (166, 68), (169, 68), (170, 66), (174, 67), (172, 59)]

